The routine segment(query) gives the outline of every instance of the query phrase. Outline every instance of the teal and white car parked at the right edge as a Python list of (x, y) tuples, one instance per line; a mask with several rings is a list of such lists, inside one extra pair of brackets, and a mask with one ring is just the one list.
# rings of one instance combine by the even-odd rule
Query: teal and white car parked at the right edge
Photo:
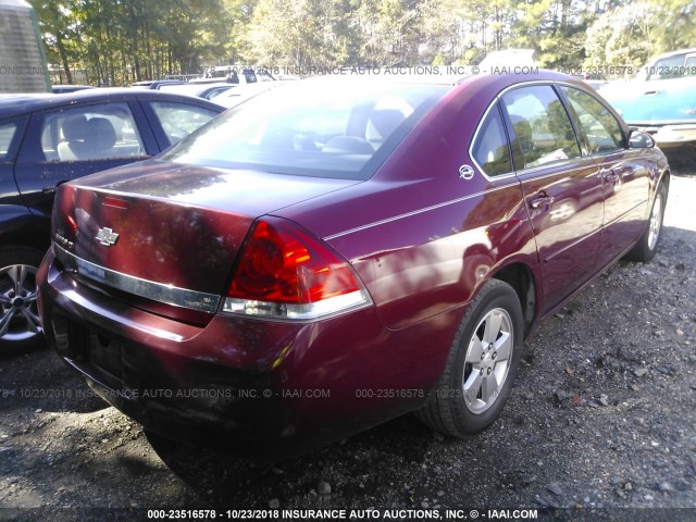
[(660, 54), (635, 79), (600, 94), (660, 148), (696, 145), (696, 48)]

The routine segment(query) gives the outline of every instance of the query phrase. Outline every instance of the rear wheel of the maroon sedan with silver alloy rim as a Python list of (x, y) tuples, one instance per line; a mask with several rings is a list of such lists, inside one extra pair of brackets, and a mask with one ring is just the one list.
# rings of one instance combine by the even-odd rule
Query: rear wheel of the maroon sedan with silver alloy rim
[(522, 355), (523, 319), (517, 293), (492, 279), (471, 303), (445, 372), (417, 417), (434, 430), (467, 438), (497, 419)]

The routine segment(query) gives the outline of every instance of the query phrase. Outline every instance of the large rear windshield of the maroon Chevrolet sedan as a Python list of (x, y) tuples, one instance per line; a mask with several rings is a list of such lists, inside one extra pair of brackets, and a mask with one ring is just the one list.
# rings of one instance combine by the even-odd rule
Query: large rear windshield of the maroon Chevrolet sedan
[(277, 174), (366, 179), (449, 88), (296, 82), (231, 109), (161, 158)]

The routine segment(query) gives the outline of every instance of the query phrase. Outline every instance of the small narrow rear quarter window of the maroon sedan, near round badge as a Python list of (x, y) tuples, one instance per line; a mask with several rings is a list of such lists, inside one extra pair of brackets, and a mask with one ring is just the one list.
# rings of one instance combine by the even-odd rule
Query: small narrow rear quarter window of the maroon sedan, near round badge
[(505, 135), (505, 127), (497, 104), (488, 111), (481, 127), (478, 127), (478, 134), (471, 148), (471, 153), (481, 170), (489, 176), (512, 172), (508, 138)]

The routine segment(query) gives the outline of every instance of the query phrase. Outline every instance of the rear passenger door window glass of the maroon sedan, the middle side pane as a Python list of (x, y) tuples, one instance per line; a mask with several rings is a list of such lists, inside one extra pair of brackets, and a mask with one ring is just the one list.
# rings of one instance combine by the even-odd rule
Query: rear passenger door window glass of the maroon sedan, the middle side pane
[(511, 90), (502, 96), (502, 103), (522, 149), (524, 169), (580, 157), (566, 109), (550, 86)]

